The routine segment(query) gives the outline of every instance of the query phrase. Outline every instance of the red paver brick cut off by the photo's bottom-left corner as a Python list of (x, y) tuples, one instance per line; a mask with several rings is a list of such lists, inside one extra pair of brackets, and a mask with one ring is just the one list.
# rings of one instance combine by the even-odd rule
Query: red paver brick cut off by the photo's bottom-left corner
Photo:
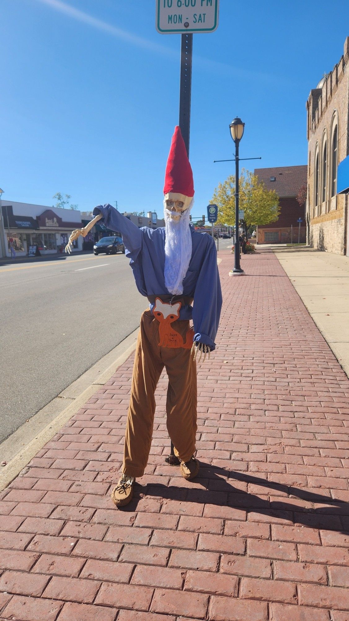
[(63, 602), (42, 597), (22, 597), (14, 595), (2, 612), (4, 619), (18, 621), (55, 621)]

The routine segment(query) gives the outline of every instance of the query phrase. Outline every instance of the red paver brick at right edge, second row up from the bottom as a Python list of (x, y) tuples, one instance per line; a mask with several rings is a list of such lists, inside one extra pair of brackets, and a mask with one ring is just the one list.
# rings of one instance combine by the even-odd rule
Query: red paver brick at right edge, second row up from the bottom
[(301, 605), (349, 610), (349, 592), (341, 587), (299, 584), (298, 597)]

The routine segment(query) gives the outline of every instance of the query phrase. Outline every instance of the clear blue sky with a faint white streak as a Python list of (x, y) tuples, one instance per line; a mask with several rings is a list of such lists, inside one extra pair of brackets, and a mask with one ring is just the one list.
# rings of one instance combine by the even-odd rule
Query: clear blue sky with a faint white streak
[[(306, 99), (343, 53), (344, 0), (220, 0), (219, 27), (193, 37), (193, 216), (231, 174), (229, 122), (245, 122), (249, 168), (306, 164)], [(330, 12), (334, 19), (330, 19)], [(155, 0), (1, 0), (3, 199), (85, 211), (162, 213), (178, 123), (180, 35), (155, 29)]]

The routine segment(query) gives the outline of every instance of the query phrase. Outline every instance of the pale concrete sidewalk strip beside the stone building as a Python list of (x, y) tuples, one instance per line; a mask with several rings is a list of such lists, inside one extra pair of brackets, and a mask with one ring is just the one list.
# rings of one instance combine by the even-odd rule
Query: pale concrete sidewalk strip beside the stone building
[(274, 252), (349, 376), (349, 257), (309, 247)]

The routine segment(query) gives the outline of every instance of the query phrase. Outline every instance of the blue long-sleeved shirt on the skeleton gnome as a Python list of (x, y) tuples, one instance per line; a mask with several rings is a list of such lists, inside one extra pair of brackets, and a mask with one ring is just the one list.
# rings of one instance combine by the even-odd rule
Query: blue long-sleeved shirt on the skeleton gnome
[[(103, 215), (100, 220), (102, 224), (110, 230), (120, 231), (138, 291), (143, 296), (170, 295), (164, 277), (165, 229), (138, 229), (108, 203), (94, 208), (93, 215), (99, 213)], [(183, 306), (179, 318), (192, 319), (194, 341), (204, 343), (214, 350), (222, 307), (216, 244), (211, 235), (196, 232), (193, 225), (190, 225), (190, 230), (193, 249), (183, 279), (183, 296), (193, 297), (194, 304), (193, 307)], [(151, 309), (153, 306), (151, 304)]]

